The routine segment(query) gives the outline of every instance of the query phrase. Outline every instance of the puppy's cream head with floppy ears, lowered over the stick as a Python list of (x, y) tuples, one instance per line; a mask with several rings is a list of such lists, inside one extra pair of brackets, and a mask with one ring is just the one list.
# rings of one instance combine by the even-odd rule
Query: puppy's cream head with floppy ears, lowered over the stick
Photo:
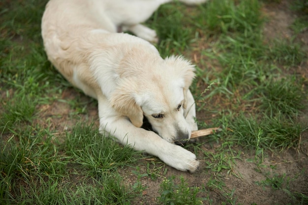
[(154, 131), (168, 142), (188, 140), (191, 128), (184, 109), (194, 66), (181, 57), (147, 66), (141, 73), (123, 75), (128, 77), (121, 79), (111, 98), (113, 108), (136, 127), (142, 126), (143, 116), (147, 117)]

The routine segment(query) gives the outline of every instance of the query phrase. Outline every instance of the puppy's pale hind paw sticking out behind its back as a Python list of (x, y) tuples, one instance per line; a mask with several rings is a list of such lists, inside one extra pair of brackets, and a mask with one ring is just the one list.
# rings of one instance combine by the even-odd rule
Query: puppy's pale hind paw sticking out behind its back
[(123, 31), (126, 31), (126, 30), (133, 32), (138, 37), (144, 40), (147, 40), (149, 42), (152, 42), (152, 43), (158, 42), (156, 31), (144, 25), (137, 24), (133, 26), (123, 26)]

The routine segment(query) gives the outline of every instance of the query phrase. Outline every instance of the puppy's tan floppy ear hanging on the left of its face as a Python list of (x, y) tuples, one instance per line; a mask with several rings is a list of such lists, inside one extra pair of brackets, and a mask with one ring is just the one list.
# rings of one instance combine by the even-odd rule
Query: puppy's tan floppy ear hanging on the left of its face
[(128, 117), (133, 125), (141, 127), (143, 111), (135, 101), (132, 84), (131, 81), (123, 80), (120, 86), (113, 92), (110, 103), (117, 112)]

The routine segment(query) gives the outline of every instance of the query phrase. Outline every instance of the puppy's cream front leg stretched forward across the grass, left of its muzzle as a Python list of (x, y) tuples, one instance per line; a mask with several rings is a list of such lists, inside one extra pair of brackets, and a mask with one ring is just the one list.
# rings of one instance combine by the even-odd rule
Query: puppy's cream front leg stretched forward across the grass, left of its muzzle
[(100, 132), (110, 134), (123, 145), (157, 156), (167, 165), (194, 172), (199, 166), (196, 155), (181, 146), (168, 143), (152, 131), (135, 127), (128, 118), (119, 116), (103, 96), (98, 96)]

